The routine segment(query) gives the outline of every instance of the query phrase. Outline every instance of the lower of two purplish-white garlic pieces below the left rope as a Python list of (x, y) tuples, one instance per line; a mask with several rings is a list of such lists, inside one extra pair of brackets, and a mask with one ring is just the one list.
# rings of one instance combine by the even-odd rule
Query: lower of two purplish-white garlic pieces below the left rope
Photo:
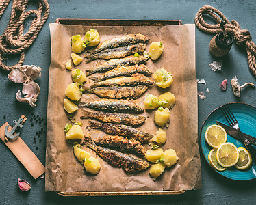
[(40, 87), (38, 83), (31, 82), (31, 83), (23, 83), (23, 89), (22, 89), (22, 94), (24, 97), (21, 95), (21, 90), (18, 90), (16, 93), (16, 99), (19, 102), (27, 102), (31, 107), (36, 107), (36, 101), (38, 100), (37, 97), (40, 93)]

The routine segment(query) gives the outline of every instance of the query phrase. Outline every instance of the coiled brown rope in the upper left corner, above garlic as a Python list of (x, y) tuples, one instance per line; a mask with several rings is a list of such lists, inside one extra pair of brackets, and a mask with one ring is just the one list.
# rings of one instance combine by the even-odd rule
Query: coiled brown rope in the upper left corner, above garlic
[[(25, 12), (29, 3), (38, 4), (38, 10), (29, 10)], [(0, 18), (10, 0), (0, 1)], [(35, 16), (27, 33), (24, 33), (24, 24), (26, 18)], [(0, 68), (3, 70), (14, 70), (16, 66), (21, 66), (25, 59), (25, 50), (36, 40), (38, 33), (49, 16), (49, 4), (47, 0), (13, 0), (10, 21), (2, 36), (0, 36)], [(21, 57), (14, 66), (3, 64), (3, 58), (6, 55), (17, 55)]]

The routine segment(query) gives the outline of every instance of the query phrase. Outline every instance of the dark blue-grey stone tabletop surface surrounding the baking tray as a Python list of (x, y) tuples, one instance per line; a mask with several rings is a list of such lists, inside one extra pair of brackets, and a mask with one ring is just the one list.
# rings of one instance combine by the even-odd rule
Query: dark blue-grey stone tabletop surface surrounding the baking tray
[[(256, 37), (255, 18), (256, 3), (251, 1), (100, 1), (100, 0), (49, 0), (50, 15), (38, 38), (26, 51), (25, 64), (36, 64), (43, 70), (42, 77), (36, 82), (40, 85), (40, 96), (37, 106), (32, 109), (28, 104), (21, 104), (15, 99), (15, 94), (21, 85), (15, 85), (7, 79), (8, 72), (0, 71), (0, 124), (18, 120), (24, 114), (28, 120), (21, 130), (21, 137), (27, 146), (45, 161), (45, 134), (37, 137), (36, 132), (41, 127), (46, 128), (47, 118), (48, 69), (51, 62), (51, 45), (49, 23), (55, 23), (56, 18), (116, 18), (116, 19), (154, 19), (154, 20), (182, 20), (185, 23), (194, 23), (194, 16), (203, 5), (212, 5), (218, 8), (231, 20), (237, 20), (242, 29), (251, 32), (253, 40)], [(33, 8), (34, 5), (31, 5)], [(0, 20), (0, 33), (3, 33), (10, 17), (11, 5)], [(27, 20), (29, 25), (31, 19)], [(227, 102), (246, 102), (256, 106), (256, 90), (248, 87), (242, 92), (241, 98), (235, 98), (228, 85), (227, 91), (220, 90), (223, 79), (228, 82), (237, 75), (241, 84), (250, 81), (256, 83), (255, 77), (248, 69), (245, 49), (233, 44), (230, 53), (222, 58), (223, 66), (220, 72), (213, 72), (208, 64), (216, 60), (209, 53), (209, 41), (212, 35), (203, 33), (196, 28), (196, 74), (198, 79), (205, 79), (206, 87), (198, 85), (199, 92), (205, 92), (209, 87), (205, 100), (199, 99), (199, 133), (203, 121), (216, 107)], [(12, 65), (16, 60), (9, 60)], [(31, 126), (32, 113), (44, 118), (42, 124)], [(5, 118), (3, 116), (6, 116)], [(38, 150), (36, 147), (38, 146)], [(27, 170), (19, 163), (8, 148), (0, 143), (0, 204), (255, 204), (255, 180), (236, 182), (222, 178), (212, 170), (201, 155), (203, 184), (202, 189), (187, 191), (182, 195), (163, 196), (133, 196), (133, 197), (61, 197), (56, 193), (44, 192), (44, 179), (34, 180)], [(17, 178), (24, 178), (32, 185), (32, 189), (24, 193), (18, 189)]]

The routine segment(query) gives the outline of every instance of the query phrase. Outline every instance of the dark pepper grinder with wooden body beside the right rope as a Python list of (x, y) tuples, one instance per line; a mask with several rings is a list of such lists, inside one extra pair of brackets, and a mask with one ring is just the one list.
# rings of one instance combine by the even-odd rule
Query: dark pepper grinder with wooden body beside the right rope
[(216, 36), (212, 38), (211, 42), (209, 42), (209, 52), (215, 57), (227, 55), (233, 43), (233, 36), (231, 33), (225, 31), (225, 23), (225, 20), (221, 21), (220, 28), (222, 31), (216, 34)]

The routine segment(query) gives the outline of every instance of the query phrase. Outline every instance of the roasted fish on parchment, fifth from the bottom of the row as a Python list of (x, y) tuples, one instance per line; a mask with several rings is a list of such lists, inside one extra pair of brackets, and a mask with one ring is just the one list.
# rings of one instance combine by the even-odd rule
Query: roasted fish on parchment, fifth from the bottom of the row
[(90, 107), (101, 111), (111, 111), (119, 113), (143, 113), (144, 108), (136, 100), (114, 100), (100, 99), (93, 102), (80, 102), (78, 107)]

